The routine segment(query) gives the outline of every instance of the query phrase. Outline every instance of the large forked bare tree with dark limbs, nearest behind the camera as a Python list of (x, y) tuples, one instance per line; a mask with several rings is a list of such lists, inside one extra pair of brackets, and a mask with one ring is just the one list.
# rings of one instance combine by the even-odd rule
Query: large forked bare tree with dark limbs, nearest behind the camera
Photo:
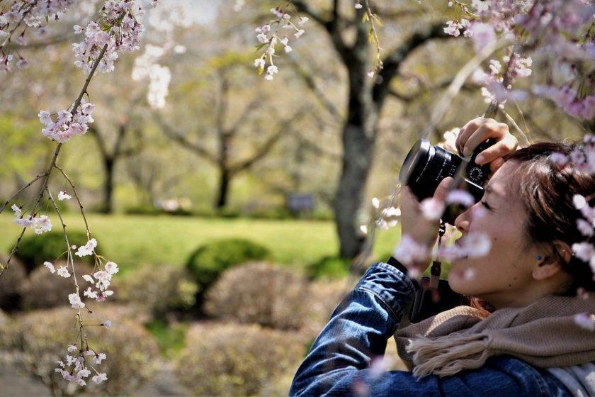
[[(339, 234), (339, 255), (353, 258), (361, 252), (365, 240), (358, 232), (356, 213), (363, 201), (372, 165), (378, 115), (385, 99), (391, 94), (390, 82), (414, 50), (429, 40), (447, 36), (441, 23), (420, 26), (400, 45), (386, 53), (382, 60), (383, 69), (375, 79), (370, 79), (367, 72), (371, 47), (368, 41), (369, 27), (363, 23), (364, 9), (356, 10), (348, 17), (340, 12), (341, 0), (333, 0), (330, 10), (315, 9), (302, 0), (294, 0), (293, 4), (324, 28), (348, 74), (348, 108), (341, 133), (342, 169), (334, 198), (334, 212)], [(355, 34), (350, 38), (348, 33), (353, 33), (353, 30)]]

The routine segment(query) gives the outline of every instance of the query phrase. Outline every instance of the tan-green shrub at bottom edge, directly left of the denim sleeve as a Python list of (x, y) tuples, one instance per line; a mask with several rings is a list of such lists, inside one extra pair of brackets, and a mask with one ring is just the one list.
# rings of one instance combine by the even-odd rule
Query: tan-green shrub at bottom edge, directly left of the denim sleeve
[(174, 363), (181, 383), (197, 396), (287, 396), (305, 353), (297, 332), (258, 325), (193, 325)]

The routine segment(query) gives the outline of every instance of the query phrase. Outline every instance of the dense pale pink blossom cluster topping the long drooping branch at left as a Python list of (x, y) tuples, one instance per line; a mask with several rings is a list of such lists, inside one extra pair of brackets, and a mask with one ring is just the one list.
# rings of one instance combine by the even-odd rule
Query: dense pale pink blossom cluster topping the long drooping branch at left
[(144, 29), (137, 20), (144, 11), (134, 0), (108, 0), (101, 10), (98, 21), (89, 22), (84, 29), (79, 25), (74, 26), (74, 33), (85, 35), (81, 43), (72, 45), (77, 58), (74, 65), (81, 67), (85, 74), (91, 72), (104, 49), (105, 54), (99, 62), (98, 70), (104, 73), (113, 72), (113, 61), (118, 59), (118, 52), (138, 50), (140, 33)]

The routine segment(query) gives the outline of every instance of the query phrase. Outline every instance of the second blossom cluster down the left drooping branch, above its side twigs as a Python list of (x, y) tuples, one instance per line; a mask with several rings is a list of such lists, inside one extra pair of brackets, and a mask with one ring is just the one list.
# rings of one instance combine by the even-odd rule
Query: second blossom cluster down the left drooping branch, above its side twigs
[[(45, 125), (41, 133), (46, 138), (56, 142), (68, 142), (74, 135), (84, 135), (89, 130), (89, 123), (93, 123), (92, 117), (95, 105), (81, 99), (81, 104), (73, 112), (72, 107), (58, 111), (56, 120), (48, 111), (40, 111), (38, 117)], [(59, 197), (60, 198), (60, 197)]]

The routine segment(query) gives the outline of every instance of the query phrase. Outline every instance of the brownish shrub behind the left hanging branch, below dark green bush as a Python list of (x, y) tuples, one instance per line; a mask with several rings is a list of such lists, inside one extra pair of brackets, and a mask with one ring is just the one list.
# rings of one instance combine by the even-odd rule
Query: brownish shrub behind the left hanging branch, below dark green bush
[[(67, 262), (56, 262), (54, 266), (56, 269), (60, 266), (67, 266)], [(81, 278), (81, 275), (90, 274), (91, 267), (86, 263), (74, 262), (74, 269), (77, 271), (82, 297), (83, 291), (86, 289), (84, 285), (88, 283)], [(70, 267), (68, 270), (71, 272)], [(112, 286), (110, 289), (113, 289)], [(45, 266), (38, 267), (31, 272), (23, 287), (23, 308), (30, 310), (68, 305), (68, 294), (73, 292), (74, 279), (72, 275), (65, 279), (56, 273), (50, 273), (50, 270)]]

